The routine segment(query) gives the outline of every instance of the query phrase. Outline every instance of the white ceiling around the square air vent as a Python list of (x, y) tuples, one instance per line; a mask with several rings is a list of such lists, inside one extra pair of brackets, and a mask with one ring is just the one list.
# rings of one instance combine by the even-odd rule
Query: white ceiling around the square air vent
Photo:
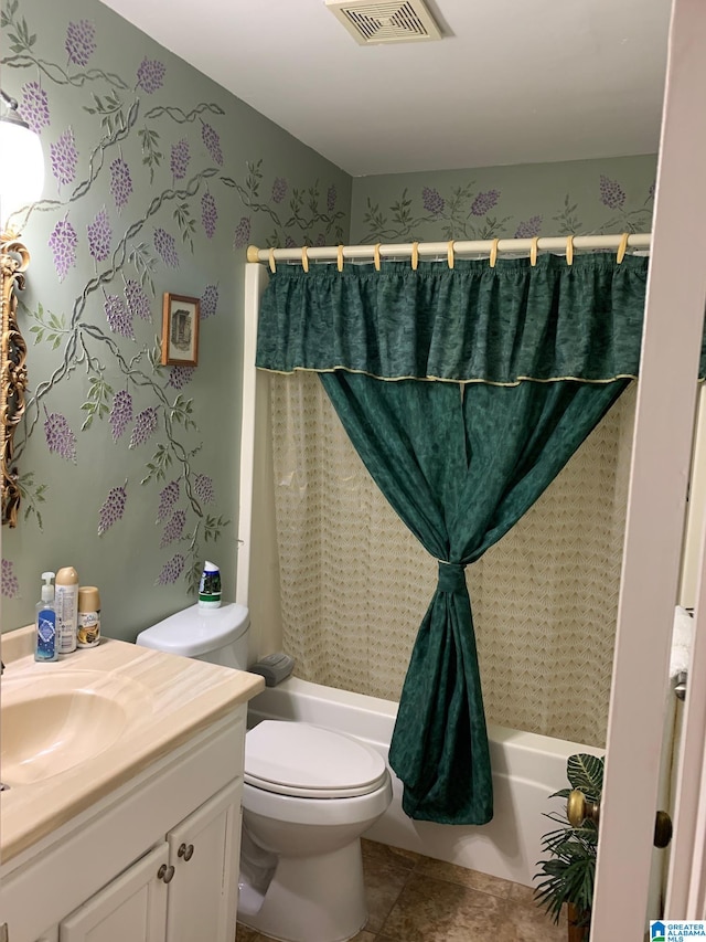
[(651, 154), (668, 0), (427, 0), (360, 46), (323, 0), (104, 0), (352, 176)]

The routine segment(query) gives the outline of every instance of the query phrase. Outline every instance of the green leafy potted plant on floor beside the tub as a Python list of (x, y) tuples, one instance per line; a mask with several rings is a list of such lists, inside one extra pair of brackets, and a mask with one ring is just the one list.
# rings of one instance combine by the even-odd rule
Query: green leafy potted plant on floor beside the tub
[[(603, 788), (603, 761), (586, 753), (570, 755), (566, 763), (570, 787), (561, 788), (549, 797), (566, 802), (569, 792), (576, 788), (587, 802), (598, 804)], [(548, 857), (537, 862), (539, 870), (534, 879), (539, 882), (534, 891), (535, 899), (555, 922), (559, 921), (561, 910), (567, 906), (569, 942), (585, 942), (590, 931), (598, 828), (588, 818), (579, 827), (574, 827), (566, 816), (566, 805), (563, 813), (550, 812), (545, 817), (558, 826), (542, 838)]]

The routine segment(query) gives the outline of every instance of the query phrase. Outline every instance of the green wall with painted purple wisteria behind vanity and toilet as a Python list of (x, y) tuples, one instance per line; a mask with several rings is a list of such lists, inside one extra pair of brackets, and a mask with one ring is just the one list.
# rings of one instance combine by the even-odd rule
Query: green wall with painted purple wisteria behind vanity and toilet
[[(349, 236), (351, 179), (95, 0), (4, 0), (2, 87), (40, 133), (24, 497), (2, 628), (40, 573), (96, 584), (107, 635), (235, 593), (245, 246)], [(201, 299), (199, 364), (159, 363), (162, 294)]]

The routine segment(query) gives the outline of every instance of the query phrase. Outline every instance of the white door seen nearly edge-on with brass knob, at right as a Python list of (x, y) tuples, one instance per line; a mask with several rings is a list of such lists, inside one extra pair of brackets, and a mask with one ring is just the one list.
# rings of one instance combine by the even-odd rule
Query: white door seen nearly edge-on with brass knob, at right
[[(592, 942), (641, 942), (645, 929), (668, 648), (706, 299), (705, 95), (706, 3), (674, 0)], [(698, 621), (697, 613), (697, 629)], [(686, 722), (689, 708), (687, 700)], [(687, 866), (692, 868), (693, 862)], [(665, 917), (684, 918), (668, 911)]]

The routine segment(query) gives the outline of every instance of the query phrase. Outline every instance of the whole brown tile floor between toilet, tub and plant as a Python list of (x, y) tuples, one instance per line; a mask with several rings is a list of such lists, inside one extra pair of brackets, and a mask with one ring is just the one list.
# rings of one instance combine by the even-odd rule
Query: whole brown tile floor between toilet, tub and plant
[[(566, 942), (532, 889), (363, 840), (368, 920), (352, 942)], [(268, 936), (238, 925), (237, 942)]]

